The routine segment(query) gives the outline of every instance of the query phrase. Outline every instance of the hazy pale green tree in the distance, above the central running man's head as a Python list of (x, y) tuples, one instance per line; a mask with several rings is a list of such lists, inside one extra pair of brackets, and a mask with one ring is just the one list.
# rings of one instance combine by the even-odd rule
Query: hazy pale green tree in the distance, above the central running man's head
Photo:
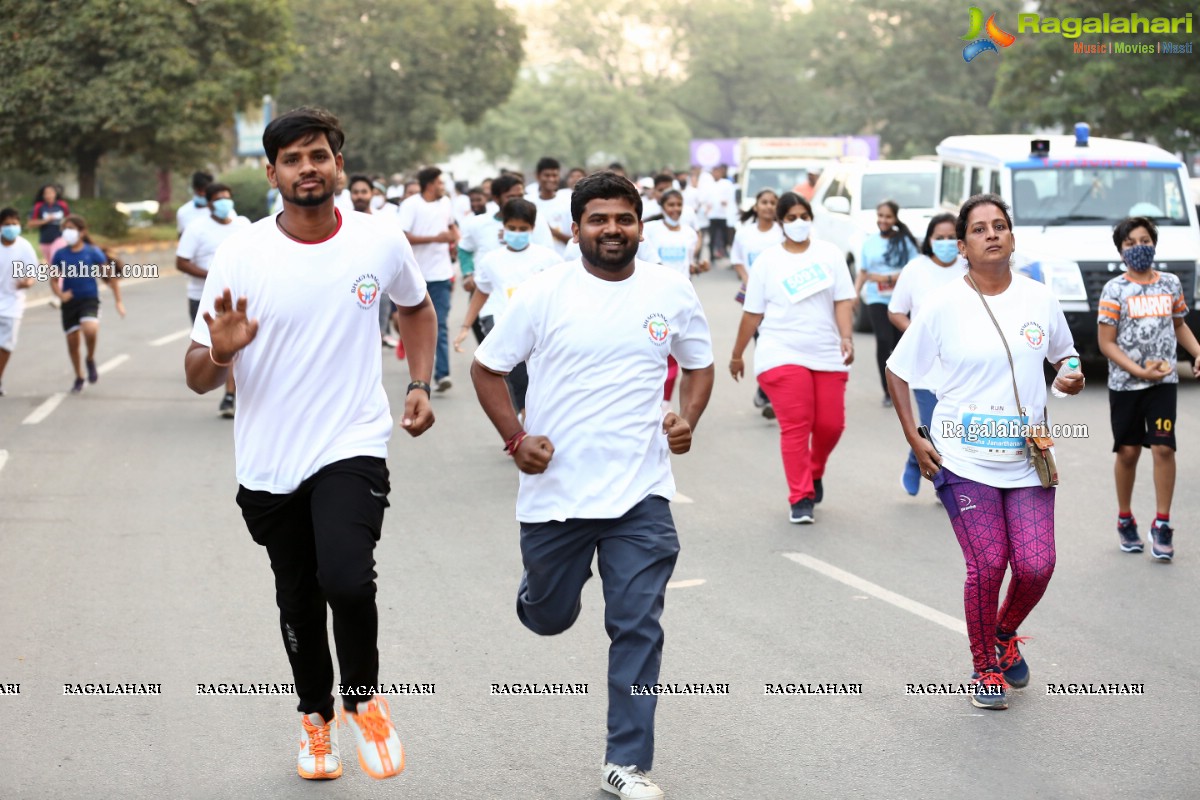
[(688, 161), (688, 126), (671, 106), (613, 86), (602, 72), (565, 64), (524, 70), (512, 97), (473, 127), (448, 128), (452, 150), (476, 146), (527, 170), (553, 156), (566, 167), (613, 160), (648, 173)]

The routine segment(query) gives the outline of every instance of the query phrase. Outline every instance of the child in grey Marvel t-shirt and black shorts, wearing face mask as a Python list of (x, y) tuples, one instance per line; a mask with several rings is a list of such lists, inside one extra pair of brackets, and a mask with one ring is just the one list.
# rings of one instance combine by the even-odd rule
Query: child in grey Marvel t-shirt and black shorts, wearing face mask
[(1171, 498), (1175, 493), (1175, 351), (1192, 354), (1200, 378), (1200, 343), (1183, 318), (1188, 313), (1183, 285), (1170, 272), (1154, 269), (1158, 228), (1146, 217), (1129, 217), (1112, 230), (1126, 272), (1100, 293), (1100, 353), (1109, 360), (1109, 410), (1116, 457), (1117, 536), (1126, 553), (1141, 553), (1133, 517), (1133, 483), (1138, 457), (1150, 447), (1154, 458), (1157, 517), (1150, 530), (1151, 554), (1175, 557)]

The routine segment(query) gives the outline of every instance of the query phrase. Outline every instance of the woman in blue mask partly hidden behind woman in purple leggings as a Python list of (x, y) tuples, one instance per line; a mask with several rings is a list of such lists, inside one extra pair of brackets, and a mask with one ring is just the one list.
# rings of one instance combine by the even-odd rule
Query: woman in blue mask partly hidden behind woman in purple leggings
[[(959, 258), (959, 237), (954, 230), (954, 222), (953, 213), (940, 213), (930, 219), (925, 239), (920, 243), (922, 254), (908, 261), (896, 278), (895, 290), (888, 302), (888, 320), (901, 335), (917, 318), (922, 302), (946, 284), (966, 275), (967, 264)], [(934, 392), (938, 383), (940, 375), (935, 369), (910, 384), (917, 398), (920, 423), (925, 427), (934, 423), (934, 408), (937, 405), (937, 396)], [(911, 450), (900, 482), (905, 492), (911, 495), (916, 495), (920, 489), (920, 464)]]

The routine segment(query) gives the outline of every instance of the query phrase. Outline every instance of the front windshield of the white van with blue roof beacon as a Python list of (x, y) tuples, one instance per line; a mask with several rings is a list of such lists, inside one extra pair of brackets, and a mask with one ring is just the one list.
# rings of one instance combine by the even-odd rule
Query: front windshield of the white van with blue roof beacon
[(1187, 197), (1169, 168), (1068, 167), (1013, 172), (1014, 225), (1106, 225), (1150, 217), (1187, 225)]

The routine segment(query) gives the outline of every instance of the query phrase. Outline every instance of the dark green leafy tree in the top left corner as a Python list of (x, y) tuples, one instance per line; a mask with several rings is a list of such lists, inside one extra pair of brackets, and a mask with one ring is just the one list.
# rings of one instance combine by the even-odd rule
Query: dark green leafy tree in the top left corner
[(73, 166), (83, 197), (106, 154), (164, 168), (211, 156), (290, 53), (286, 0), (11, 0), (5, 11), (0, 166)]

